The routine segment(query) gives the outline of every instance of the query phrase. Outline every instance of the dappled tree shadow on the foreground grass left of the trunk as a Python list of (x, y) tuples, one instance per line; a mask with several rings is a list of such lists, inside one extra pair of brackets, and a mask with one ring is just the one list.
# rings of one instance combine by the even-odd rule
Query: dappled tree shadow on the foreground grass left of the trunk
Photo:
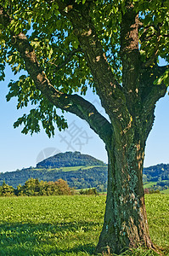
[(0, 255), (93, 255), (95, 222), (0, 224)]

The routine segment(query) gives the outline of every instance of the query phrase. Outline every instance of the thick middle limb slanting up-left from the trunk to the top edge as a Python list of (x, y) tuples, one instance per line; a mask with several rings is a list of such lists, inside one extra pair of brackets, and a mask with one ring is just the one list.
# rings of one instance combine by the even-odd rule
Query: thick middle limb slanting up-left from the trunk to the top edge
[[(48, 3), (48, 0), (46, 1)], [(56, 0), (56, 2), (59, 5), (59, 12), (65, 15), (73, 25), (74, 34), (84, 52), (87, 66), (93, 74), (97, 94), (106, 113), (112, 118), (114, 113), (110, 108), (117, 108), (117, 105), (123, 105), (125, 96), (121, 85), (115, 80), (104, 54), (103, 46), (93, 26), (93, 21), (90, 17), (90, 8), (92, 8), (93, 1), (87, 1), (85, 4), (69, 1), (67, 6), (60, 0)]]

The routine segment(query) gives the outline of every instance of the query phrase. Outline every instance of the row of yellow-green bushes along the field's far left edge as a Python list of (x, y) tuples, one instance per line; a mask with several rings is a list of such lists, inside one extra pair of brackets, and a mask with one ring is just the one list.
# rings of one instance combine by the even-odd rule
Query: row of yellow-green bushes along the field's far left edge
[(73, 195), (74, 189), (71, 189), (68, 183), (59, 179), (55, 182), (39, 181), (37, 178), (28, 179), (23, 186), (19, 185), (17, 189), (9, 186), (5, 182), (0, 186), (0, 196), (36, 196), (36, 195)]

